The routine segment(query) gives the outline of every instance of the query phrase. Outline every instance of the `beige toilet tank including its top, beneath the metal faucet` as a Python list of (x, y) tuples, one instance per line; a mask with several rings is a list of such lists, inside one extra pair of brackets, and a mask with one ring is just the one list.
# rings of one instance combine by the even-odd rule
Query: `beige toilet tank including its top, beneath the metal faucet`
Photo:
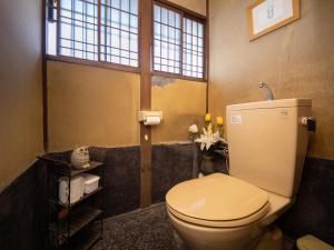
[(301, 182), (311, 99), (284, 99), (226, 107), (230, 176), (293, 197)]

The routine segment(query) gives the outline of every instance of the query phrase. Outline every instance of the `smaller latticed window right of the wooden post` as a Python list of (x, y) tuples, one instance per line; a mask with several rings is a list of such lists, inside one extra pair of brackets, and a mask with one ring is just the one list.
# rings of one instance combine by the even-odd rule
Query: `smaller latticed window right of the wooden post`
[(154, 7), (153, 69), (204, 78), (204, 21), (156, 3)]

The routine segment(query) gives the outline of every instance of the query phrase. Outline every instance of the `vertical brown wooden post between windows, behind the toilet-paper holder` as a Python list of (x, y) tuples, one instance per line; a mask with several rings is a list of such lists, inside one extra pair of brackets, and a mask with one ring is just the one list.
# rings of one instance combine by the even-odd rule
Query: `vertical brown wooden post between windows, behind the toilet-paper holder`
[[(153, 0), (140, 0), (140, 109), (150, 110), (151, 104), (151, 36)], [(151, 132), (140, 124), (140, 207), (151, 204)]]

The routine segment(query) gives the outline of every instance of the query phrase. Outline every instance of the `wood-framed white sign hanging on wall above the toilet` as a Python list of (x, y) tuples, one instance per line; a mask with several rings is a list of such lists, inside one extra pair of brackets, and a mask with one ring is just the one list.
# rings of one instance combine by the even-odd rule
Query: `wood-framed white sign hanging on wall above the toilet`
[(299, 0), (256, 0), (247, 8), (249, 40), (301, 18)]

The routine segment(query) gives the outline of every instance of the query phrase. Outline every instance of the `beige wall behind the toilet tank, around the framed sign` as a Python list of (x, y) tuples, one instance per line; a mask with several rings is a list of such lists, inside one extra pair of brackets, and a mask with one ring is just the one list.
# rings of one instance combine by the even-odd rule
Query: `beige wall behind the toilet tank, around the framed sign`
[(210, 0), (209, 109), (264, 100), (267, 82), (277, 99), (313, 99), (317, 131), (310, 156), (334, 159), (334, 1), (302, 1), (302, 19), (253, 42), (246, 8), (252, 0)]

